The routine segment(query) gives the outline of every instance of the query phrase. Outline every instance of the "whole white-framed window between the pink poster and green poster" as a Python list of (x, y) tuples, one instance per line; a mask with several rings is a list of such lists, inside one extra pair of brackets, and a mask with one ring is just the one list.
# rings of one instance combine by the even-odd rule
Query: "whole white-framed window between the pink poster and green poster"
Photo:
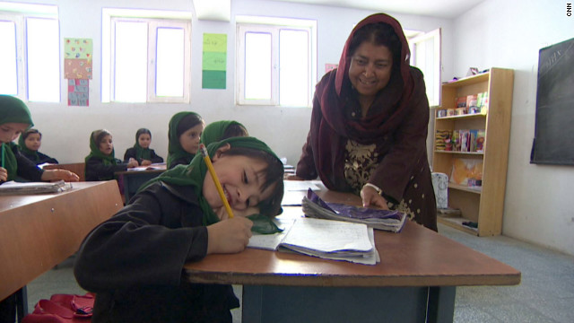
[(189, 103), (190, 13), (104, 9), (103, 20), (102, 102)]

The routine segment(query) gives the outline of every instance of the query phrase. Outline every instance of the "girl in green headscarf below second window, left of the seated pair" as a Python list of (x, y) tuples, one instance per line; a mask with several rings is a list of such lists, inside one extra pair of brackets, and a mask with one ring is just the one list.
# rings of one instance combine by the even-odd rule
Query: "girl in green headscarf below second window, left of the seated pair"
[(106, 129), (91, 132), (90, 154), (86, 156), (85, 163), (87, 181), (114, 179), (116, 171), (137, 167), (134, 159), (122, 162), (116, 158), (112, 135)]

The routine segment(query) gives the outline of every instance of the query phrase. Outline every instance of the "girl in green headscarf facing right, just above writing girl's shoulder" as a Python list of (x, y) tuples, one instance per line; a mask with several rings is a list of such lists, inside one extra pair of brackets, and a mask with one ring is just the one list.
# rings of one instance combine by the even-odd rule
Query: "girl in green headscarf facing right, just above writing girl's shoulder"
[(204, 119), (195, 112), (178, 112), (171, 117), (168, 131), (169, 170), (191, 162), (199, 149), (199, 139), (204, 127)]

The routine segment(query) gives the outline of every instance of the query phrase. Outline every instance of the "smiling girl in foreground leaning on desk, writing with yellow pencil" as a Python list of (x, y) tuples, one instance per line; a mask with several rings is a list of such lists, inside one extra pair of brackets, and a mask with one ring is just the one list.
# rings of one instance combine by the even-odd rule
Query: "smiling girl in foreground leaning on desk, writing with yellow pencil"
[[(250, 205), (274, 216), (283, 198), (283, 163), (253, 137), (210, 144), (208, 153), (235, 212)], [(197, 154), (152, 179), (83, 241), (74, 275), (96, 292), (93, 321), (231, 322), (239, 301), (230, 285), (190, 284), (183, 266), (246, 248), (252, 223), (222, 213), (222, 200)]]

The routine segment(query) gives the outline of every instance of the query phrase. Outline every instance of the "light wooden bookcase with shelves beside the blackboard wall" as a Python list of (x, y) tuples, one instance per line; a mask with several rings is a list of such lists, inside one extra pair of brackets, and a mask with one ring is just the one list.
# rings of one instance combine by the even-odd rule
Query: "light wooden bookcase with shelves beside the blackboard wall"
[[(477, 74), (442, 84), (441, 106), (435, 111), (434, 134), (440, 130), (483, 129), (483, 151), (455, 152), (438, 150), (434, 141), (432, 170), (448, 175), (450, 179), (456, 159), (482, 162), (482, 187), (467, 187), (448, 183), (448, 207), (460, 209), (462, 215), (442, 216), (439, 223), (478, 236), (501, 233), (504, 195), (509, 161), (510, 118), (514, 72), (509, 69), (491, 68), (488, 73)], [(439, 117), (439, 110), (456, 109), (457, 98), (470, 94), (488, 92), (488, 111), (484, 114), (464, 114)], [(463, 223), (478, 223), (477, 228)]]

